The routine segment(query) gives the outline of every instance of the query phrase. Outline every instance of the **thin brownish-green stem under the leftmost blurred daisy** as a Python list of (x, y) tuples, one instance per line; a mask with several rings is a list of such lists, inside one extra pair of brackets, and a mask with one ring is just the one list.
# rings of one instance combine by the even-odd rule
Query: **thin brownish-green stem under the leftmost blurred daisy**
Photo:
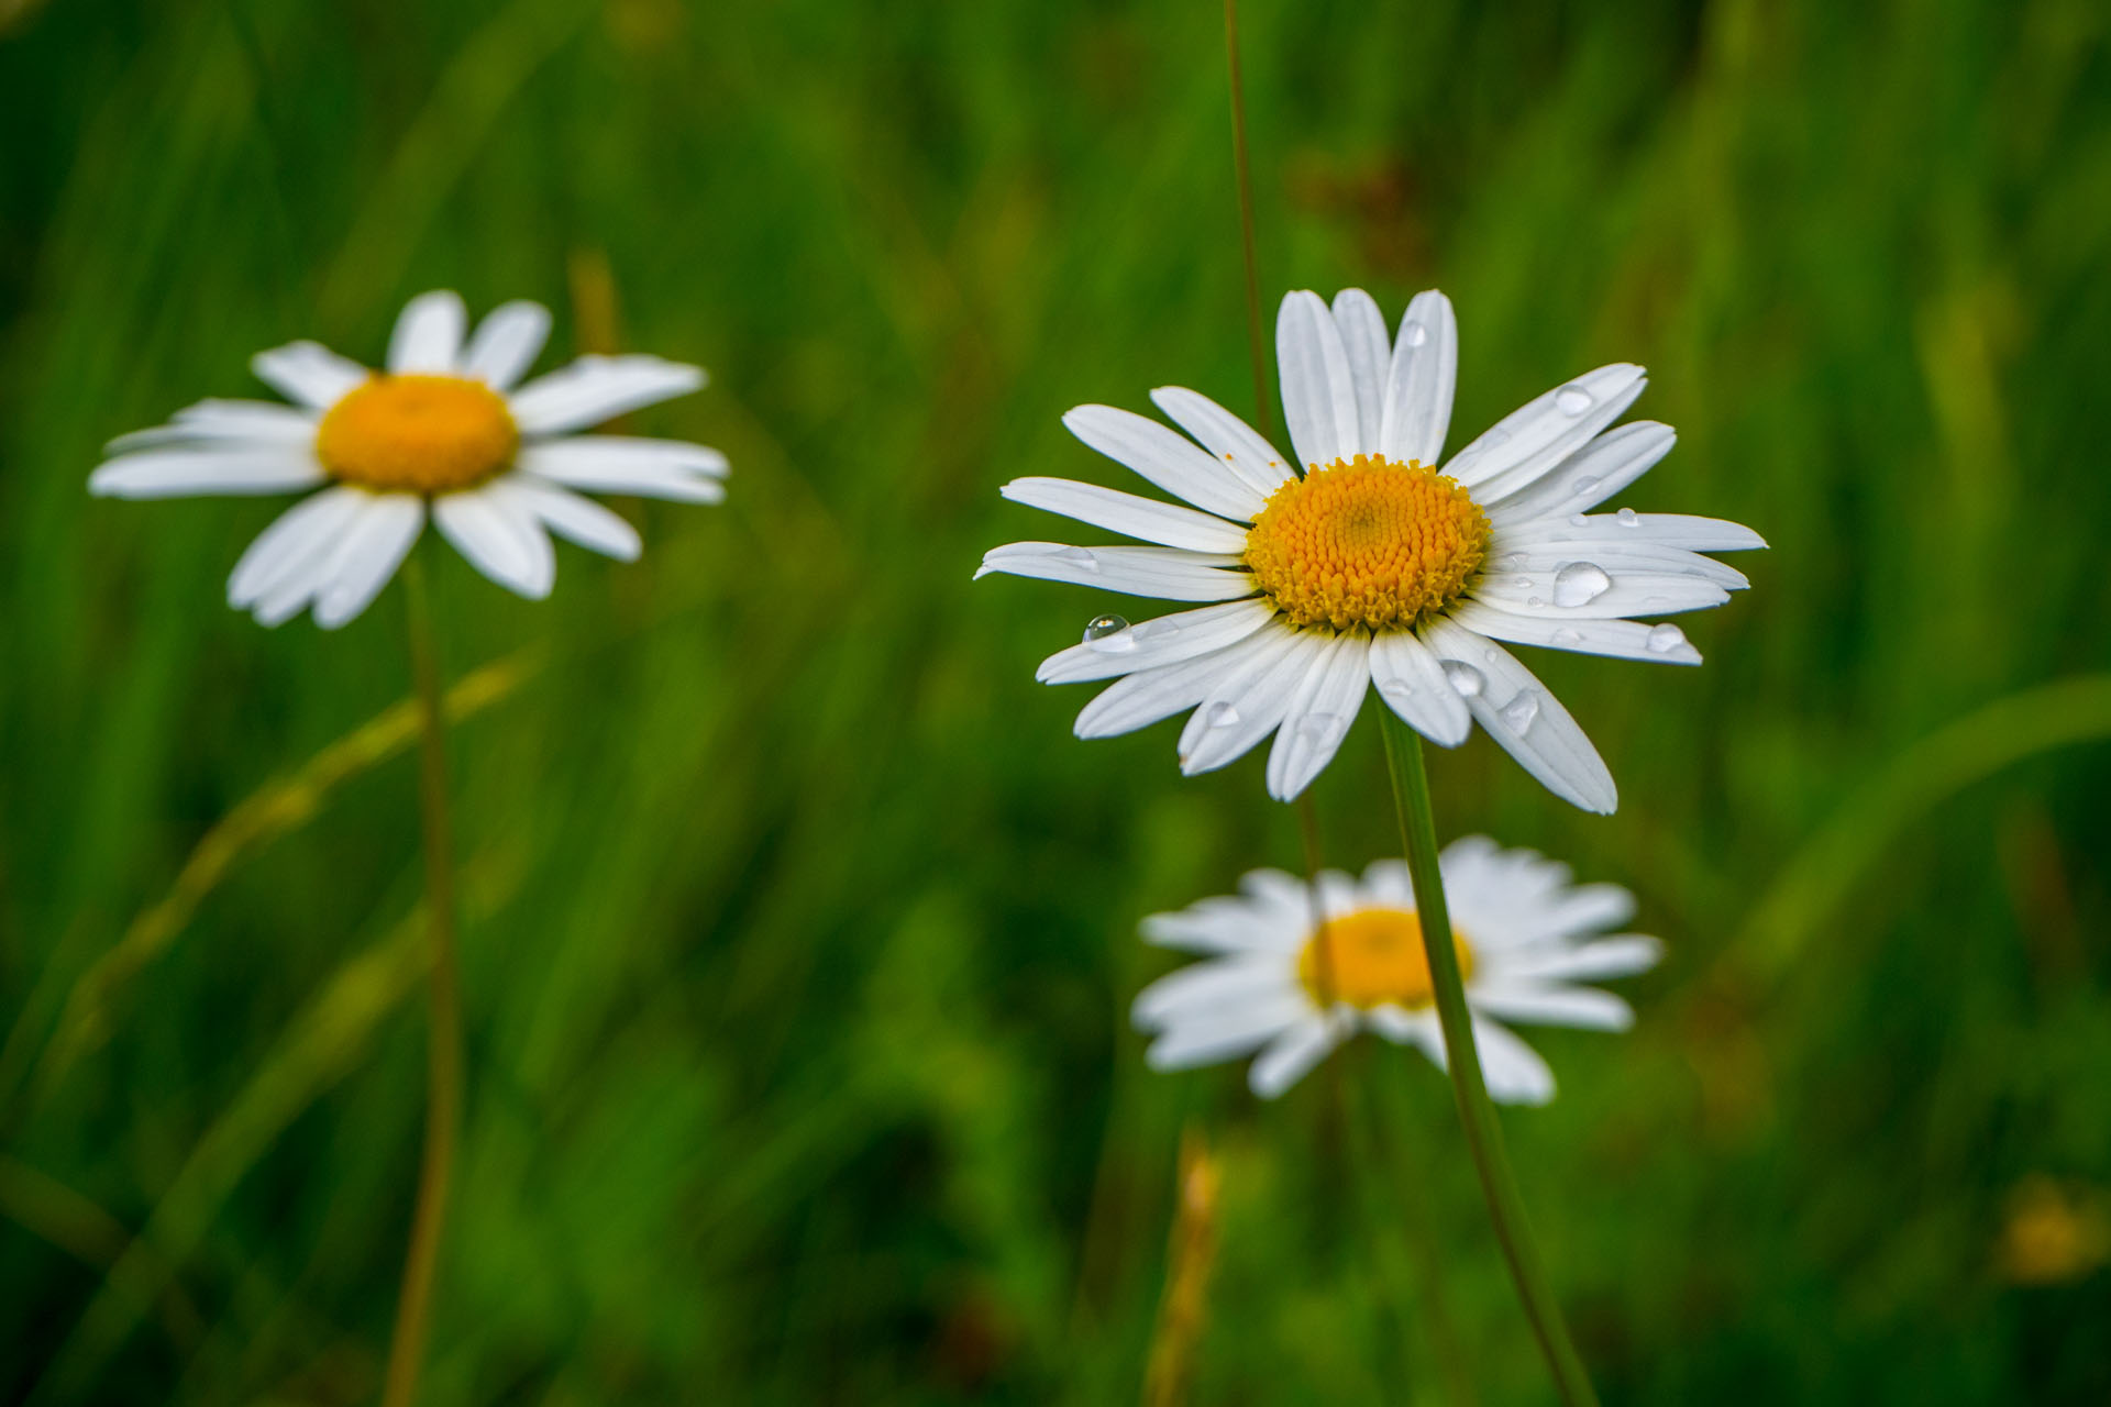
[(418, 1204), (412, 1211), (403, 1289), (397, 1295), (395, 1335), (382, 1407), (410, 1407), (418, 1396), (424, 1339), (433, 1312), (433, 1272), (448, 1217), (454, 1177), (454, 1141), (462, 1122), (462, 996), (454, 958), (454, 833), (448, 818), (445, 719), (439, 696), (439, 660), (433, 648), (433, 612), (424, 595), (424, 563), (403, 563), (403, 601), (410, 608), (410, 664), (418, 690), (418, 802), (424, 818), (424, 909), (433, 943), (433, 1029), (426, 1046), (424, 1160), (418, 1169)]

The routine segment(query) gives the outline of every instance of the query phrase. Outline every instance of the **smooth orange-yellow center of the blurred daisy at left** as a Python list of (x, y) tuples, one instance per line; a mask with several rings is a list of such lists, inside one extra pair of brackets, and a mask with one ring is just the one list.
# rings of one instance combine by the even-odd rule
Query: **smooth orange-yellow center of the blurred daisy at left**
[(374, 375), (323, 416), (315, 454), (369, 489), (445, 494), (513, 462), (521, 435), (505, 397), (462, 375)]

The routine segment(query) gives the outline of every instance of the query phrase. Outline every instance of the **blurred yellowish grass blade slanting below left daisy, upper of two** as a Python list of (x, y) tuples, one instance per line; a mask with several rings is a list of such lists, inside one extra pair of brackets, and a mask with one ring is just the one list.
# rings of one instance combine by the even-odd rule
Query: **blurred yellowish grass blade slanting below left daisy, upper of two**
[[(545, 650), (530, 645), (519, 654), (464, 675), (448, 690), (450, 721), (475, 717), (483, 709), (509, 698), (545, 662)], [(336, 787), (388, 762), (410, 747), (416, 736), (418, 709), (414, 700), (403, 698), (319, 751), (289, 776), (281, 776), (251, 793), (222, 816), (192, 848), (169, 892), (156, 905), (144, 909), (127, 926), (116, 947), (103, 953), (74, 983), (65, 1000), (65, 1010), (59, 1017), (59, 1027), (38, 1067), (36, 1088), (51, 1088), (65, 1076), (74, 1061), (110, 1036), (112, 998), (175, 941), (175, 934), (190, 924), (198, 903), (226, 878), (234, 861), (306, 825)], [(27, 1025), (30, 1015), (25, 1013), (17, 1023), (17, 1032), (8, 1038), (6, 1059), (0, 1061), (0, 1103), (4, 1103), (8, 1091), (15, 1086), (17, 1046), (25, 1044), (23, 1029)]]

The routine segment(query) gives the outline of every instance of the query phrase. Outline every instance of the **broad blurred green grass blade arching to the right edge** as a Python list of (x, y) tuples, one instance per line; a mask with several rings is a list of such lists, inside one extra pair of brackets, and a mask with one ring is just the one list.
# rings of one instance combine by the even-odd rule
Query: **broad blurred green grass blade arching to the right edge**
[(1723, 953), (1718, 975), (1771, 987), (1885, 848), (1932, 806), (2027, 757), (2098, 738), (2111, 738), (2111, 675), (2020, 690), (1938, 728), (1805, 842)]

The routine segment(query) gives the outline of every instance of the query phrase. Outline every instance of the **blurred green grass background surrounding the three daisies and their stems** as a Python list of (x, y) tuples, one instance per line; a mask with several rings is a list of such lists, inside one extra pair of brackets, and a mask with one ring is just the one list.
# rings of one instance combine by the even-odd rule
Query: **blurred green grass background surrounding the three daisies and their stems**
[[(412, 764), (384, 721), (272, 787), (403, 698), (401, 605), (264, 633), (224, 580), (279, 504), (84, 479), (260, 394), (253, 350), (372, 361), (458, 287), (549, 302), (553, 356), (707, 365), (635, 422), (735, 477), (623, 504), (646, 557), (562, 548), (547, 603), (435, 555), (448, 667), (496, 671), (452, 738), (426, 1401), (1129, 1401), (1184, 1129), (1222, 1188), (1195, 1401), (1438, 1403), (1444, 1339), (1478, 1401), (1549, 1401), (1435, 1072), (1340, 1063), (1378, 1148), (1328, 1078), (1142, 1069), (1136, 918), (1294, 867), (1294, 816), (1258, 753), (1180, 780), (1172, 726), (1068, 736), (1087, 690), (1032, 667), (1134, 603), (969, 586), (1047, 532), (1003, 481), (1121, 479), (1066, 407), (1250, 405), (1214, 4), (0, 17), (0, 1399), (376, 1392)], [(1507, 1116), (1606, 1401), (2107, 1401), (2111, 13), (1243, 23), (1271, 306), (1442, 285), (1454, 443), (1642, 361), (1680, 445), (1630, 500), (1773, 542), (1687, 618), (1701, 671), (1530, 658), (1617, 816), (1484, 738), (1435, 762), (1446, 831), (1670, 943), (1632, 1036), (1535, 1034), (1562, 1097)], [(1315, 797), (1330, 861), (1395, 844), (1370, 717)]]

